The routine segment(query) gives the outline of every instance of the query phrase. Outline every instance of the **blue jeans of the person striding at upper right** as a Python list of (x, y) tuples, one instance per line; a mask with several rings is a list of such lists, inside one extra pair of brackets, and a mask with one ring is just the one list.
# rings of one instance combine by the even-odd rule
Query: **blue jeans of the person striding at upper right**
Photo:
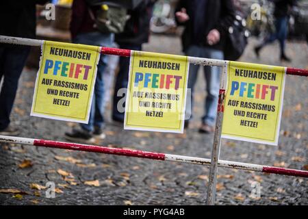
[(285, 40), (287, 39), (287, 22), (288, 16), (281, 16), (276, 18), (275, 27), (276, 31), (271, 34), (269, 38), (262, 44), (262, 47), (268, 43), (274, 42), (274, 40), (279, 40), (279, 45), (281, 49), (281, 54), (285, 53)]

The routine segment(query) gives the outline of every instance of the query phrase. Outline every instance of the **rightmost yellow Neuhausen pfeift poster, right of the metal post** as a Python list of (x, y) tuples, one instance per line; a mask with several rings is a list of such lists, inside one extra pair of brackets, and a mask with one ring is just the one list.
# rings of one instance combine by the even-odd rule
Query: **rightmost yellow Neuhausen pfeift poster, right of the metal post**
[(230, 62), (222, 138), (278, 144), (285, 68)]

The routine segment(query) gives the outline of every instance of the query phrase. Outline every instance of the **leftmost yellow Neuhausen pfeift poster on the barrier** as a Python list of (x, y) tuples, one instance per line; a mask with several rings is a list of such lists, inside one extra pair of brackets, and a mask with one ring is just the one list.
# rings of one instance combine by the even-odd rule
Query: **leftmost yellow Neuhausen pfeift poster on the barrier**
[(31, 116), (88, 123), (100, 47), (44, 41)]

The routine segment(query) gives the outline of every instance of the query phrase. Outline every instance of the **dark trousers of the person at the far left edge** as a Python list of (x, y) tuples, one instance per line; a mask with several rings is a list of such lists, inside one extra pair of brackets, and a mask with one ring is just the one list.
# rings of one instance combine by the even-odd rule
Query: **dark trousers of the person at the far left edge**
[(18, 79), (29, 54), (29, 47), (3, 47), (0, 45), (0, 130), (10, 124), (10, 114), (15, 100)]

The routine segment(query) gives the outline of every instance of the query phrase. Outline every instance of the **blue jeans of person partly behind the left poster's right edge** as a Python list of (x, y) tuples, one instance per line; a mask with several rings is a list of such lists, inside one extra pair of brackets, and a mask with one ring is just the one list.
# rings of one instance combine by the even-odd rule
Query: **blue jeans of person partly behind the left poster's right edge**
[[(101, 34), (100, 32), (89, 32), (78, 34), (72, 40), (74, 43), (88, 44), (99, 47), (111, 47), (114, 41), (113, 34)], [(101, 55), (97, 66), (97, 79), (94, 86), (94, 94), (90, 110), (88, 124), (80, 124), (81, 128), (86, 131), (93, 131), (94, 127), (101, 128), (104, 125), (104, 83), (103, 73), (107, 64), (107, 55)]]

